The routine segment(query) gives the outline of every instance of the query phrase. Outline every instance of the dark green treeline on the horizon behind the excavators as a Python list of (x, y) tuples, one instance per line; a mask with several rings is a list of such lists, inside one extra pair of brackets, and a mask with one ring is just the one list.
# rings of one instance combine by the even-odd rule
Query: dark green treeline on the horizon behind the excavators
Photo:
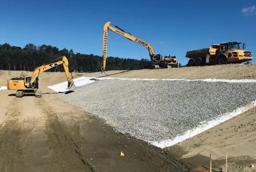
[[(27, 44), (24, 48), (0, 45), (0, 70), (33, 71), (40, 65), (47, 64), (58, 57), (69, 59), (70, 71), (97, 72), (100, 71), (102, 57), (93, 54), (74, 53), (66, 48), (59, 50), (56, 46)], [(142, 69), (150, 64), (147, 59), (135, 60), (131, 58), (108, 57), (106, 70)], [(52, 68), (51, 71), (63, 71), (62, 67)]]

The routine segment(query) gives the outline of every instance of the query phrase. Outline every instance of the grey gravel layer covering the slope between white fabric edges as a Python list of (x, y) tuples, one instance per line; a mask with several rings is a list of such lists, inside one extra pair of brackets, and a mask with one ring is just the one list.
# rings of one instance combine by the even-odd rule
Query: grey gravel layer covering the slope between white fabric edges
[(175, 138), (256, 100), (256, 83), (100, 80), (63, 94), (139, 139)]

